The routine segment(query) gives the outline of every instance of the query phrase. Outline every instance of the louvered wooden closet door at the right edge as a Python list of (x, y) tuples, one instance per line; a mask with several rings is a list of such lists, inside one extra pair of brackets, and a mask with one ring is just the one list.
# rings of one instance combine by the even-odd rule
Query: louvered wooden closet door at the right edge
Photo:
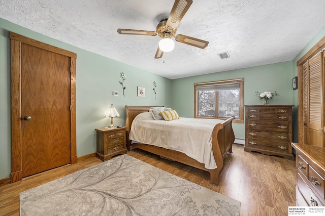
[[(305, 70), (304, 70), (305, 72)], [(307, 144), (323, 146), (322, 53), (308, 60), (307, 67)], [(305, 85), (305, 80), (304, 80)], [(305, 113), (304, 113), (305, 118)]]

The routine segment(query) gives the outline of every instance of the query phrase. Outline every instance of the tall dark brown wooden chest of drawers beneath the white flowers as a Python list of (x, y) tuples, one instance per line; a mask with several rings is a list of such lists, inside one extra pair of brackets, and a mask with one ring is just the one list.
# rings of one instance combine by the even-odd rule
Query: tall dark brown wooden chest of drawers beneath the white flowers
[(247, 152), (256, 151), (295, 160), (293, 139), (294, 105), (245, 105)]

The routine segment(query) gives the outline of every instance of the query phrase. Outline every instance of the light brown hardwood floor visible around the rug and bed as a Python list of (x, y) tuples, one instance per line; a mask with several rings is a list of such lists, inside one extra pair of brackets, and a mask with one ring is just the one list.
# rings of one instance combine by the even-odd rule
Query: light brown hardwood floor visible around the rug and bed
[[(127, 153), (183, 179), (219, 192), (241, 202), (240, 215), (287, 215), (296, 205), (295, 161), (259, 153), (244, 152), (233, 145), (220, 172), (219, 185), (212, 185), (206, 171), (160, 158), (139, 149)], [(102, 161), (96, 157), (55, 168), (0, 187), (0, 215), (19, 215), (19, 193), (69, 175)]]

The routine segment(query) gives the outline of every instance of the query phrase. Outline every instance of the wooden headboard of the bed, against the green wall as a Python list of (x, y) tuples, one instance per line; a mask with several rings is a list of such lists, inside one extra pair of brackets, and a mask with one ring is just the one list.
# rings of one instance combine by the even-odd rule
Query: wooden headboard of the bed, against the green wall
[(125, 121), (125, 126), (126, 126), (126, 147), (127, 150), (130, 150), (130, 141), (128, 139), (128, 135), (131, 130), (131, 124), (133, 119), (140, 113), (142, 112), (149, 112), (151, 107), (157, 107), (157, 106), (127, 106), (125, 105), (125, 110), (126, 110), (126, 121)]

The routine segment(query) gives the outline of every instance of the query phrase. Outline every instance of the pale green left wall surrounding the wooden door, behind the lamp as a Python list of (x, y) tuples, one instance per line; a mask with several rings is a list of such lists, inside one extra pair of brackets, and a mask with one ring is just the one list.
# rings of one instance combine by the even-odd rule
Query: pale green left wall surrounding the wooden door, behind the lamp
[[(11, 54), (9, 32), (15, 32), (77, 54), (77, 155), (96, 152), (95, 128), (110, 124), (104, 114), (113, 103), (120, 114), (114, 124), (125, 125), (125, 105), (171, 106), (171, 80), (112, 59), (87, 52), (28, 30), (0, 18), (0, 179), (11, 174)], [(120, 73), (126, 74), (123, 97)], [(153, 81), (156, 81), (156, 100)], [(146, 88), (146, 97), (137, 97), (137, 87)], [(112, 92), (117, 91), (118, 97)]]

